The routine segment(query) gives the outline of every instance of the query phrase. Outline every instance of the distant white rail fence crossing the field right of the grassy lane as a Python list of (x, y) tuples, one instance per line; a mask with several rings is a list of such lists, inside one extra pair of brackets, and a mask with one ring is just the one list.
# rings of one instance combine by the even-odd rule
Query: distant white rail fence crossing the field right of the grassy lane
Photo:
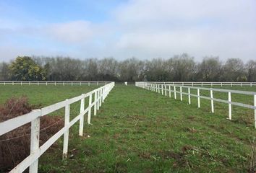
[(256, 82), (150, 81), (150, 83), (151, 84), (177, 84), (182, 86), (256, 86)]

